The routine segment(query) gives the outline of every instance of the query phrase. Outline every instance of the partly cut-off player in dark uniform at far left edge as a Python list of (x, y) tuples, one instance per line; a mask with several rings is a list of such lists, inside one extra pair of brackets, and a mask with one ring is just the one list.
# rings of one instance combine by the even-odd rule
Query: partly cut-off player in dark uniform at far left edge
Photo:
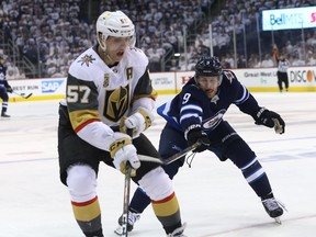
[(9, 101), (8, 92), (12, 93), (13, 90), (7, 81), (7, 67), (4, 66), (4, 59), (0, 56), (0, 98), (2, 99), (2, 117), (10, 117), (10, 115), (7, 114)]

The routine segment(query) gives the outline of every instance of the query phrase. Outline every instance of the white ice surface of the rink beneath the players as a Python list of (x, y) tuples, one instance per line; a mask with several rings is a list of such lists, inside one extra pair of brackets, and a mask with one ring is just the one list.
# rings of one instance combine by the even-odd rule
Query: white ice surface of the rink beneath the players
[[(316, 93), (253, 95), (283, 116), (285, 134), (255, 125), (234, 105), (225, 119), (256, 151), (274, 195), (289, 212), (282, 225), (275, 224), (230, 161), (221, 162), (212, 153), (202, 153), (173, 181), (190, 237), (316, 236)], [(170, 95), (160, 95), (157, 104), (168, 99)], [(72, 216), (68, 191), (59, 182), (57, 111), (58, 101), (10, 103), (12, 117), (0, 121), (0, 237), (83, 236)], [(157, 117), (146, 133), (155, 146), (163, 124)], [(123, 210), (123, 174), (101, 166), (98, 194), (106, 237), (116, 236), (113, 230)], [(165, 236), (151, 207), (129, 236)]]

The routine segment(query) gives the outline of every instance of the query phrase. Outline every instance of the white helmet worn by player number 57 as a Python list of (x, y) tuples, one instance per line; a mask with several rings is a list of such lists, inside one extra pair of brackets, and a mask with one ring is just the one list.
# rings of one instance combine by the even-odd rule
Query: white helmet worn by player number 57
[(106, 41), (109, 36), (114, 37), (131, 37), (129, 46), (134, 47), (136, 43), (135, 26), (131, 19), (122, 11), (103, 12), (97, 20), (97, 36), (98, 42), (103, 50), (106, 46), (102, 46), (99, 35)]

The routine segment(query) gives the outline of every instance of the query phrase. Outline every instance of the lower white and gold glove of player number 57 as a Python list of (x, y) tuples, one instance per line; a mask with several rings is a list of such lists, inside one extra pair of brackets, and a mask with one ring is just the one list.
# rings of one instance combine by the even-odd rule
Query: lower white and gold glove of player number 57
[(135, 176), (136, 169), (140, 167), (140, 161), (131, 137), (123, 133), (114, 133), (105, 138), (105, 143), (109, 144), (109, 151), (114, 159), (115, 168), (125, 174), (126, 162), (128, 161), (132, 166), (132, 176)]

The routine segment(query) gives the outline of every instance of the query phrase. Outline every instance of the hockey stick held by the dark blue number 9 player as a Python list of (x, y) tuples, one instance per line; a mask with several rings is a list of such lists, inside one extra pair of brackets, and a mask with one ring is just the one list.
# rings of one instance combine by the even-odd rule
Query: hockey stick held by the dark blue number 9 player
[(167, 165), (180, 159), (181, 157), (185, 156), (188, 153), (194, 150), (200, 145), (201, 145), (201, 143), (196, 142), (192, 146), (187, 147), (185, 149), (172, 155), (171, 157), (168, 157), (167, 159), (160, 159), (160, 158), (145, 156), (145, 155), (138, 155), (138, 158), (139, 158), (140, 161), (157, 162), (157, 163), (167, 166)]

